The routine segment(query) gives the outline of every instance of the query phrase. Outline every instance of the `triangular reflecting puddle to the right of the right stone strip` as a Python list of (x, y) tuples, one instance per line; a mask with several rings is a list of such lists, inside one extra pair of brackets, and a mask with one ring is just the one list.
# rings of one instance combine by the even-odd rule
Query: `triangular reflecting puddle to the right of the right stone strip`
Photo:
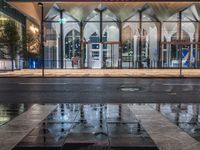
[(200, 141), (199, 104), (151, 104), (150, 106)]

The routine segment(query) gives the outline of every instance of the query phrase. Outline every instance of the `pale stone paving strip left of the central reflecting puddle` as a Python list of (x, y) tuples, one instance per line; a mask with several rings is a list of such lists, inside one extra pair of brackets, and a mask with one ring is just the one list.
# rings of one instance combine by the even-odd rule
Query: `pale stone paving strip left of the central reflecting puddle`
[(33, 128), (43, 121), (57, 105), (33, 105), (7, 124), (0, 127), (0, 150), (14, 148)]

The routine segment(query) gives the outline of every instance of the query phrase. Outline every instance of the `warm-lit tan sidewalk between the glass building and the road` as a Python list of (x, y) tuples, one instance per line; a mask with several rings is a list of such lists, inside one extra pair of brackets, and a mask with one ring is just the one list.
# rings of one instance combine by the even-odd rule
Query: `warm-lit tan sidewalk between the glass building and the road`
[[(45, 77), (179, 77), (179, 69), (45, 69)], [(183, 69), (184, 77), (200, 77), (200, 69)], [(42, 77), (41, 69), (0, 72), (0, 77)]]

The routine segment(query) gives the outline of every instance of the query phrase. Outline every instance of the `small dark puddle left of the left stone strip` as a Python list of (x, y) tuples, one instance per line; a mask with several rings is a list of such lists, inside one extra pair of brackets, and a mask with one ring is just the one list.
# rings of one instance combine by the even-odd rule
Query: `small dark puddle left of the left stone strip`
[(28, 110), (27, 104), (0, 104), (0, 126)]

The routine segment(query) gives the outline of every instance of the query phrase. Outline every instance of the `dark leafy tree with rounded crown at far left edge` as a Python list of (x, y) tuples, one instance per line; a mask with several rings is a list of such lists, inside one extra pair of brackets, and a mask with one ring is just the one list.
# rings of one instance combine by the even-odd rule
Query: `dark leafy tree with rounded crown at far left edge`
[(2, 43), (8, 47), (8, 54), (12, 60), (12, 71), (14, 70), (14, 59), (17, 54), (17, 50), (20, 48), (21, 41), (16, 23), (12, 20), (8, 20), (3, 25), (3, 31), (0, 37)]

